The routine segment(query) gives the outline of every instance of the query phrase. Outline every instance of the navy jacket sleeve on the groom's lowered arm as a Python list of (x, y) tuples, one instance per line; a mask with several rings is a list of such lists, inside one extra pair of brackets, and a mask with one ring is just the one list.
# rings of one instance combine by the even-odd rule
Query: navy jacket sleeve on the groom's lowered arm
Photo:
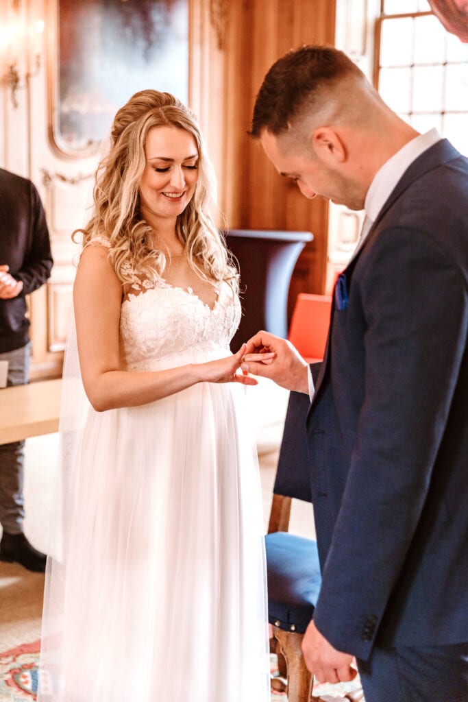
[(335, 648), (366, 659), (415, 535), (424, 540), (468, 303), (450, 253), (403, 229), (377, 237), (352, 286), (366, 329), (364, 401), (314, 621)]

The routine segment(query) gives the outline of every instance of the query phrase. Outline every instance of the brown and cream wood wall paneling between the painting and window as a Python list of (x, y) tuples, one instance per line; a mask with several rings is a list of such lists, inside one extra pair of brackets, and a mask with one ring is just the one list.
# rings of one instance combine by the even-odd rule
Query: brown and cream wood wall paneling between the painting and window
[[(191, 105), (206, 135), (227, 225), (314, 233), (314, 241), (297, 263), (290, 308), (298, 292), (323, 291), (328, 204), (308, 201), (295, 185), (280, 178), (247, 131), (255, 97), (272, 63), (301, 44), (333, 43), (334, 8), (329, 0), (192, 0), (191, 4)], [(221, 18), (220, 24), (213, 22), (213, 14)]]

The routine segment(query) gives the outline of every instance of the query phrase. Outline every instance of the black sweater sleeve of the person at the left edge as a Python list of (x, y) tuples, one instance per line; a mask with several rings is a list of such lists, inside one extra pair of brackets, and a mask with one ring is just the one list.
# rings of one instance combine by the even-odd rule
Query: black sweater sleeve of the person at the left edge
[(23, 284), (22, 296), (32, 293), (44, 285), (51, 275), (53, 265), (51, 241), (49, 238), (44, 207), (36, 187), (31, 183), (30, 192), (30, 246), (25, 256), (21, 270), (15, 273), (15, 278)]

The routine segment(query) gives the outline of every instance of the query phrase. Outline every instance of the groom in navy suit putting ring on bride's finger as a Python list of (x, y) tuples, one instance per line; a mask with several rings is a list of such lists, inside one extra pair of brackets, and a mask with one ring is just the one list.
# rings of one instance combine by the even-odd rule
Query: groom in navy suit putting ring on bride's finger
[[(305, 46), (260, 88), (251, 134), (305, 197), (365, 208), (326, 357), (248, 342), (244, 371), (309, 393), (323, 583), (303, 642), (366, 702), (468, 700), (468, 160), (420, 135), (347, 56)], [(255, 362), (255, 352), (276, 352)]]

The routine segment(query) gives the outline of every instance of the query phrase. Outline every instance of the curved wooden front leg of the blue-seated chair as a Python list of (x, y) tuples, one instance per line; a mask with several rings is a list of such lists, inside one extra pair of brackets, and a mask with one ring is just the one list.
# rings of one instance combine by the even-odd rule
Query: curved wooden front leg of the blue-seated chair
[(300, 644), (303, 634), (273, 627), (273, 635), (286, 659), (288, 702), (309, 702), (313, 675), (307, 670)]

